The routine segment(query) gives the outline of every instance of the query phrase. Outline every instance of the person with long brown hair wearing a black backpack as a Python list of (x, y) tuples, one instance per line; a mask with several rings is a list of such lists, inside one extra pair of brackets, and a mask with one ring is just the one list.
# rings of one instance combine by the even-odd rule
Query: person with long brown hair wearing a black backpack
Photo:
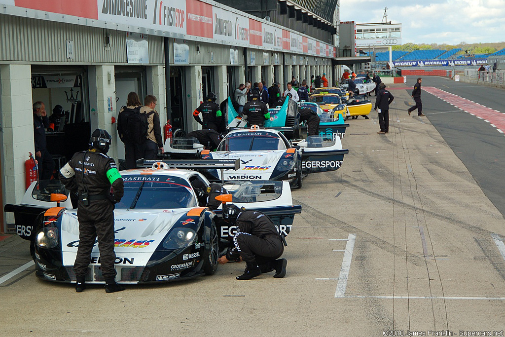
[[(136, 130), (137, 122), (140, 120), (140, 98), (136, 92), (130, 92), (126, 99), (126, 106), (123, 106), (118, 115), (118, 133), (119, 139), (125, 145), (125, 166), (126, 169), (136, 168), (136, 161), (144, 155), (143, 143)], [(145, 116), (144, 116), (145, 117)]]

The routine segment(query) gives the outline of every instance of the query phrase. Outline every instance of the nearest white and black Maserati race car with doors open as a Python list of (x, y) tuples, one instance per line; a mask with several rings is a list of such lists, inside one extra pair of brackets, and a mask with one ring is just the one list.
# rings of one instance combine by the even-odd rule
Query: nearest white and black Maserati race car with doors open
[[(156, 168), (155, 168), (156, 165)], [(200, 173), (171, 169), (162, 163), (150, 169), (122, 171), (125, 195), (116, 204), (116, 280), (120, 283), (174, 281), (213, 274), (220, 249), (236, 228), (225, 223), (221, 211), (211, 211), (197, 198), (192, 182), (209, 181)], [(65, 193), (59, 181), (45, 189)], [(269, 215), (288, 234), (294, 214), (287, 182), (239, 181), (225, 186), (233, 203)], [(49, 281), (75, 282), (74, 261), (79, 247), (77, 210), (70, 200), (60, 206), (42, 195), (37, 182), (27, 190), (22, 205), (6, 205), (14, 212), (21, 237), (31, 241), (36, 276)], [(220, 247), (221, 246), (221, 247)], [(86, 282), (105, 283), (98, 245), (92, 250)]]

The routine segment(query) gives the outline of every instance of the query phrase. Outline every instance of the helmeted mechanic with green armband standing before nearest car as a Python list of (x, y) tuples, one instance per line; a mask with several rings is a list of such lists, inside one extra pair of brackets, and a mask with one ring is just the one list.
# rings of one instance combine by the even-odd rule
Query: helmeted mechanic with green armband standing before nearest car
[[(114, 204), (123, 198), (124, 186), (116, 163), (107, 156), (111, 138), (106, 130), (94, 130), (89, 149), (74, 154), (60, 170), (60, 180), (65, 187), (78, 195), (79, 248), (74, 263), (77, 293), (86, 288), (85, 277), (97, 236), (105, 291), (114, 293), (125, 290), (115, 280)], [(110, 193), (111, 185), (113, 195)]]

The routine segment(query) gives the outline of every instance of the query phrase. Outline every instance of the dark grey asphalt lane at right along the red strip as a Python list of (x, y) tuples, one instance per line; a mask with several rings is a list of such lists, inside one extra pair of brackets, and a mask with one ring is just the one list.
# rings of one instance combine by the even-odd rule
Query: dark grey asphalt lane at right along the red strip
[[(408, 76), (407, 84), (414, 85), (417, 77)], [(423, 78), (423, 87), (436, 87), (459, 95), (480, 105), (499, 111), (498, 118), (505, 122), (505, 90), (456, 82), (443, 77)], [(412, 91), (410, 91), (412, 92)], [(451, 106), (433, 95), (422, 93), (426, 117), (460, 158), (475, 178), (485, 195), (505, 216), (505, 136), (475, 113), (475, 106), (468, 113)], [(416, 114), (414, 111), (413, 114)], [(505, 131), (505, 130), (503, 130)]]

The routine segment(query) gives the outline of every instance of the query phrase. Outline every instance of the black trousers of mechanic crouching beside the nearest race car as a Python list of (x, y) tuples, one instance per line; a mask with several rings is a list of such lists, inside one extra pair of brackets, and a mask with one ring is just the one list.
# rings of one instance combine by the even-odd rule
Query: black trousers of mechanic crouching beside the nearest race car
[(233, 237), (242, 260), (258, 264), (262, 271), (270, 267), (270, 262), (277, 260), (284, 253), (284, 245), (277, 237), (260, 238), (249, 233), (238, 232)]

